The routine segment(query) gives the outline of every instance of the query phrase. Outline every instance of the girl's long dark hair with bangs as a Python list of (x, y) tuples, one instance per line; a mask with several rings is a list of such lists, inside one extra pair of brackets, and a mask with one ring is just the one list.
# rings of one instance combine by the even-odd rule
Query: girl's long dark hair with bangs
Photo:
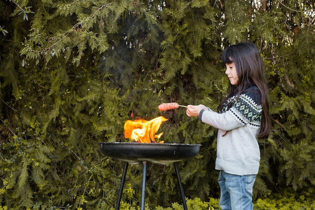
[[(221, 112), (227, 99), (235, 95), (238, 97), (243, 91), (251, 86), (257, 86), (261, 93), (262, 103), (262, 121), (259, 130), (259, 138), (267, 138), (270, 133), (270, 115), (268, 104), (268, 86), (264, 77), (264, 65), (260, 56), (259, 50), (254, 43), (241, 42), (231, 45), (222, 53), (221, 60), (223, 63), (234, 62), (237, 74), (238, 84), (229, 85), (229, 90), (226, 97), (218, 106), (218, 111)], [(229, 107), (231, 104), (229, 105)]]

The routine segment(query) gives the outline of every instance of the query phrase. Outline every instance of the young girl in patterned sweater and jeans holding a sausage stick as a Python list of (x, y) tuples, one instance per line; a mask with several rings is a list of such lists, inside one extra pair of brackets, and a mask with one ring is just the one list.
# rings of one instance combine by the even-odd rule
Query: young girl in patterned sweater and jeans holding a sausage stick
[(257, 138), (270, 132), (268, 88), (256, 45), (227, 47), (222, 54), (230, 85), (218, 111), (188, 105), (187, 115), (218, 128), (215, 169), (219, 170), (222, 210), (253, 209), (253, 186), (259, 170)]

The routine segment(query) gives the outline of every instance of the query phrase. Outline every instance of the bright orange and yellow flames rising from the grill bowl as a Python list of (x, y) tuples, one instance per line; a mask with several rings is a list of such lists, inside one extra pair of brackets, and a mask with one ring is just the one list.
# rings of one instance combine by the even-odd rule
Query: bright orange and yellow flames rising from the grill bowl
[[(127, 120), (124, 125), (125, 138), (130, 138), (139, 143), (156, 143), (155, 138), (161, 138), (163, 132), (159, 135), (155, 135), (155, 133), (159, 130), (161, 124), (167, 120), (163, 116), (153, 118), (150, 121), (144, 119)], [(164, 141), (159, 143), (164, 143)]]

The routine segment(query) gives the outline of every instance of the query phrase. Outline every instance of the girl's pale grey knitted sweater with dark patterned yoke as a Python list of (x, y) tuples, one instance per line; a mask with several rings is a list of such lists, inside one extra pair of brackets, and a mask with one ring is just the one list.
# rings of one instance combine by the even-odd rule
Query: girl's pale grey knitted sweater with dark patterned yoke
[(256, 86), (248, 88), (238, 98), (229, 98), (232, 106), (217, 113), (202, 110), (199, 119), (218, 128), (215, 169), (234, 175), (258, 174), (260, 150), (257, 142), (262, 105)]

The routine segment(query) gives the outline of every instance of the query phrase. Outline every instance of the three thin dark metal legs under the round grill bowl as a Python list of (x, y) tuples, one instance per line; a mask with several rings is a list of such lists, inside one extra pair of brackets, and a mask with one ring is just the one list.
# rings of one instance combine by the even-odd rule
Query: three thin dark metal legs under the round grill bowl
[[(145, 203), (145, 182), (146, 182), (146, 167), (147, 167), (146, 161), (143, 161), (142, 165), (143, 165), (143, 169), (142, 169), (142, 189), (141, 189), (140, 210), (144, 210), (144, 203)], [(125, 184), (127, 168), (128, 168), (128, 162), (125, 162), (124, 170), (123, 170), (123, 173), (122, 173), (122, 176), (121, 176), (121, 182), (120, 182), (118, 198), (117, 198), (117, 204), (116, 204), (115, 210), (119, 210), (119, 208), (120, 208), (120, 200), (121, 200), (122, 191), (123, 191), (124, 184)], [(180, 177), (180, 174), (179, 174), (179, 169), (178, 169), (177, 162), (174, 162), (174, 168), (175, 168), (175, 173), (176, 173), (176, 176), (177, 176), (177, 181), (178, 181), (178, 185), (179, 185), (179, 189), (180, 189), (180, 193), (181, 193), (181, 197), (182, 197), (182, 201), (183, 201), (183, 207), (184, 207), (184, 210), (187, 210), (187, 204), (186, 204), (186, 199), (185, 199), (185, 194), (184, 194), (184, 188), (183, 188), (181, 177)]]

